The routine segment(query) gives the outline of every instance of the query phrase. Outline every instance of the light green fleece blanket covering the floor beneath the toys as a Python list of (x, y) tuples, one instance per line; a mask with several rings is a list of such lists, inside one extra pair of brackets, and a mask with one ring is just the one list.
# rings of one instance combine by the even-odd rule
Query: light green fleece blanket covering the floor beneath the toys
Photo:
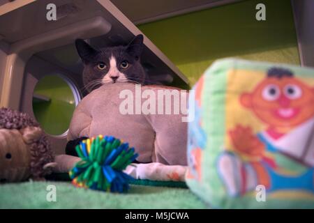
[[(56, 200), (50, 192), (55, 185)], [(25, 182), (0, 185), (0, 208), (207, 208), (190, 190), (130, 185), (126, 194), (74, 187), (69, 182)]]

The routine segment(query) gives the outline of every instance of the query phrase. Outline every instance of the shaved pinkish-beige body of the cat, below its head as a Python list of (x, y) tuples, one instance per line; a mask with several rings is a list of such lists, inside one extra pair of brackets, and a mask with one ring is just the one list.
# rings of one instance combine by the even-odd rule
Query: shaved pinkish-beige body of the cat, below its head
[[(158, 98), (163, 93), (172, 93), (170, 100), (167, 96)], [(165, 86), (104, 84), (83, 98), (75, 109), (68, 140), (112, 135), (135, 148), (138, 162), (186, 165), (186, 114), (182, 109), (178, 114), (176, 109), (184, 107), (181, 105), (187, 98), (186, 91)], [(145, 108), (150, 112), (154, 108), (147, 104), (155, 107), (157, 114), (148, 114)], [(171, 114), (166, 114), (167, 106), (171, 107)], [(163, 112), (158, 112), (160, 108)]]

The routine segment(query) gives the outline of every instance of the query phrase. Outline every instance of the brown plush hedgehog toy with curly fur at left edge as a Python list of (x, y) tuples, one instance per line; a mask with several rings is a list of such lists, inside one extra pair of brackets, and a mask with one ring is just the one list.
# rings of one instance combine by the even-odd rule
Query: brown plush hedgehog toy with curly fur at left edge
[(41, 180), (54, 167), (54, 153), (28, 114), (0, 109), (0, 182)]

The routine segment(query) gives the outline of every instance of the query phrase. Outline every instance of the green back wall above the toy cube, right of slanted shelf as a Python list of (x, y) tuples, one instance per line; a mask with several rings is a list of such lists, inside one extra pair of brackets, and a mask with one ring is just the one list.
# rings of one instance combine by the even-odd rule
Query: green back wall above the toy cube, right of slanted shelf
[[(266, 21), (255, 19), (264, 3)], [(171, 17), (138, 28), (194, 84), (223, 57), (299, 64), (290, 0), (249, 0)]]

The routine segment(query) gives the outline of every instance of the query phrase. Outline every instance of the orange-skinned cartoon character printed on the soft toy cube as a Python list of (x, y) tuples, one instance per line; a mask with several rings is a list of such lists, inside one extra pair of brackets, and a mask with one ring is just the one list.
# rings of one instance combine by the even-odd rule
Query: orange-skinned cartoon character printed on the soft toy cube
[[(233, 149), (218, 158), (218, 173), (232, 196), (264, 185), (269, 192), (314, 192), (314, 87), (284, 68), (271, 68), (252, 91), (241, 93), (239, 103), (260, 120), (264, 129), (249, 125), (228, 130)], [(292, 170), (279, 157), (298, 165)], [(293, 172), (293, 173), (292, 173)]]

